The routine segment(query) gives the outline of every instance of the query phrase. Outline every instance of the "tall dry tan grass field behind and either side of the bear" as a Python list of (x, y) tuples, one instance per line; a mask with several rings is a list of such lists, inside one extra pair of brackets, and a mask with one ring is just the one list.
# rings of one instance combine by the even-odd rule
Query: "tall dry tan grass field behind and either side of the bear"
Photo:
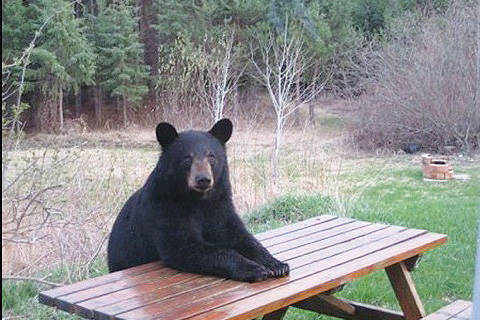
[[(239, 125), (228, 143), (228, 154), (234, 202), (240, 214), (281, 195), (312, 193), (330, 196), (339, 213), (348, 211), (346, 197), (353, 196), (353, 189), (339, 179), (350, 161), (342, 126), (336, 120), (331, 125), (334, 115), (318, 114), (320, 123), (324, 121), (320, 128), (287, 129), (276, 184), (272, 183), (270, 161), (273, 128), (253, 121)], [(15, 188), (2, 188), (3, 220), (14, 221), (15, 212), (26, 212), (25, 202), (33, 194), (40, 193), (41, 199), (20, 222), (22, 228), (33, 222), (33, 229), (20, 228), (23, 231), (8, 234), (11, 226), (2, 224), (3, 275), (32, 276), (61, 269), (66, 274), (63, 281), (85, 276), (92, 261), (104, 256), (114, 218), (145, 182), (158, 154), (153, 130), (138, 128), (37, 135), (4, 153), (9, 160), (4, 181), (8, 184), (20, 178)], [(2, 162), (2, 168), (7, 162)], [(51, 186), (55, 189), (42, 191)], [(47, 211), (50, 215), (43, 221)]]

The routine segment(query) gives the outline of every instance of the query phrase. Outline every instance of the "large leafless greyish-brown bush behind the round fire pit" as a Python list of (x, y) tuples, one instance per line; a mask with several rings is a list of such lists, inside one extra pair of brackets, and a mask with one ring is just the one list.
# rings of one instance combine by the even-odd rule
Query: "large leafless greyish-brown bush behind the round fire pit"
[(392, 24), (387, 44), (365, 60), (368, 89), (355, 132), (361, 147), (478, 148), (475, 11), (457, 3), (443, 15), (408, 15)]

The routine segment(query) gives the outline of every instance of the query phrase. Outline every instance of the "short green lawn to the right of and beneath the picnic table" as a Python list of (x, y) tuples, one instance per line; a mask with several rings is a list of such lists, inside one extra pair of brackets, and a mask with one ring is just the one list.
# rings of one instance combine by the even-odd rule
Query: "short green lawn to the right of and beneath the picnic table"
[[(427, 252), (413, 273), (427, 313), (456, 299), (472, 299), (476, 234), (480, 217), (480, 168), (463, 170), (468, 181), (424, 182), (418, 168), (400, 168), (364, 190), (353, 218), (426, 229), (448, 235), (448, 242)], [(358, 172), (355, 179), (377, 173)], [(348, 177), (344, 177), (348, 178)], [(385, 272), (375, 272), (349, 284), (340, 294), (399, 310)], [(333, 319), (291, 310), (286, 319)]]

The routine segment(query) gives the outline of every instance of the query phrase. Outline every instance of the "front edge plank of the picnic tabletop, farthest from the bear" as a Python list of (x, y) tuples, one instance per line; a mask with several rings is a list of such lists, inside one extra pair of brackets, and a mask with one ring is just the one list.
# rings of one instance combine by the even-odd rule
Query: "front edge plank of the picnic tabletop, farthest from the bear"
[[(407, 234), (408, 231), (409, 230), (402, 233)], [(390, 243), (390, 239), (386, 239), (377, 243), (374, 247), (371, 247), (372, 252), (369, 254), (361, 255), (351, 260), (348, 257), (341, 257), (340, 260), (345, 259), (347, 262), (341, 265), (335, 265), (331, 269), (321, 270), (320, 268), (315, 268), (317, 272), (296, 281), (285, 281), (282, 283), (281, 279), (277, 279), (273, 281), (267, 280), (263, 283), (264, 287), (268, 285), (273, 286), (272, 282), (274, 281), (277, 282), (275, 284), (280, 283), (281, 285), (276, 287), (275, 290), (262, 291), (248, 297), (225, 296), (222, 297), (225, 298), (223, 300), (223, 306), (218, 305), (221, 303), (218, 299), (215, 304), (206, 300), (202, 302), (199, 301), (199, 303), (205, 303), (205, 310), (210, 309), (210, 311), (198, 314), (191, 319), (220, 320), (254, 318), (260, 314), (291, 305), (312, 295), (364, 276), (374, 270), (382, 269), (408, 257), (422, 253), (444, 243), (445, 240), (446, 237), (444, 235), (435, 233), (417, 235), (407, 240), (404, 239), (395, 245)], [(382, 246), (381, 243), (384, 242), (389, 242), (389, 244)], [(290, 278), (292, 278), (292, 276), (290, 276)], [(234, 300), (234, 298), (238, 299)], [(158, 319), (162, 318), (158, 317)], [(177, 319), (182, 318), (178, 317)]]

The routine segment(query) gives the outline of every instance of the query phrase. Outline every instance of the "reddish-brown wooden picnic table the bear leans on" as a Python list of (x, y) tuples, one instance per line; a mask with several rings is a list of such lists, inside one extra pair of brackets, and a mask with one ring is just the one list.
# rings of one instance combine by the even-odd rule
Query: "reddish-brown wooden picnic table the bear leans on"
[[(425, 316), (410, 271), (447, 237), (322, 215), (256, 235), (290, 265), (288, 277), (242, 283), (179, 272), (152, 262), (44, 291), (43, 304), (90, 319), (281, 319), (289, 307), (343, 319), (417, 320)], [(385, 269), (403, 311), (333, 295)]]

